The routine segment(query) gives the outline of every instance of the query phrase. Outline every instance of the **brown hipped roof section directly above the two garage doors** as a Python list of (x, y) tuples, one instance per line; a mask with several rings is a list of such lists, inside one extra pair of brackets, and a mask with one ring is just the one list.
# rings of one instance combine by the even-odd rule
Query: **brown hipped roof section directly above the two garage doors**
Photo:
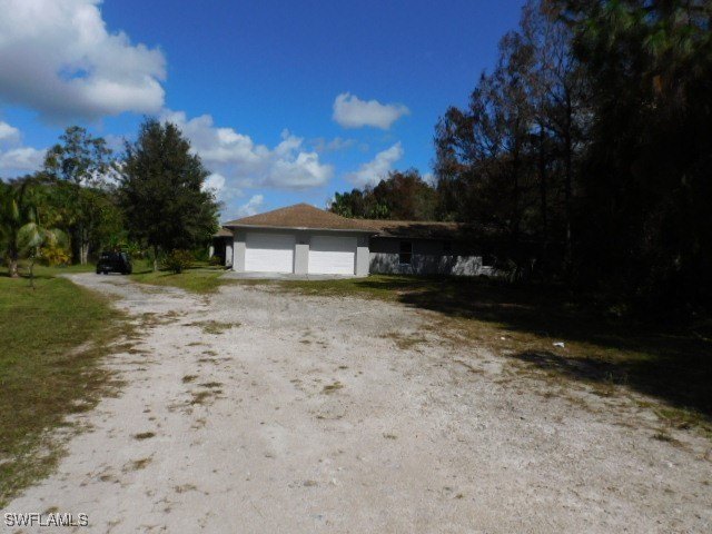
[(360, 219), (348, 219), (340, 215), (315, 208), (308, 204), (295, 204), (265, 214), (230, 220), (228, 228), (298, 228), (310, 230), (353, 230), (372, 233), (373, 228)]

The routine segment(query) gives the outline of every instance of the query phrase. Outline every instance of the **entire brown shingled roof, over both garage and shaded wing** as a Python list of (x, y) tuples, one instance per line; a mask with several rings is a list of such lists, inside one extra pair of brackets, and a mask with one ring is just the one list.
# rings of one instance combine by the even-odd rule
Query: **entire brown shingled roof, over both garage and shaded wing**
[[(296, 204), (265, 214), (230, 220), (225, 228), (293, 228), (313, 230), (363, 231), (380, 237), (409, 239), (467, 239), (482, 235), (484, 228), (464, 222), (439, 222), (424, 220), (350, 219), (315, 208), (308, 204)], [(230, 231), (230, 230), (227, 230)], [(484, 231), (485, 234), (487, 231)], [(230, 231), (231, 235), (231, 231)]]

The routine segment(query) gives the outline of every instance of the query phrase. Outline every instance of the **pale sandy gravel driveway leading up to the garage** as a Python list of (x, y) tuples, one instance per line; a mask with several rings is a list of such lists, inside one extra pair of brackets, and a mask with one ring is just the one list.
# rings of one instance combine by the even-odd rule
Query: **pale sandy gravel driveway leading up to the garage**
[(652, 413), (583, 386), (545, 395), (419, 334), (428, 313), (72, 279), (142, 338), (107, 358), (120, 395), (77, 416), (90, 429), (7, 511), (87, 513), (78, 531), (101, 533), (712, 531), (709, 442), (654, 439)]

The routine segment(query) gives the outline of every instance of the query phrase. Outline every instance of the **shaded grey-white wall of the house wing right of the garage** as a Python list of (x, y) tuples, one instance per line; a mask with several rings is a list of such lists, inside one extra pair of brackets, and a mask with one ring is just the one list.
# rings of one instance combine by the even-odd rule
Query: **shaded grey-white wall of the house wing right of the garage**
[[(411, 265), (402, 265), (400, 241), (413, 244)], [(370, 273), (408, 275), (496, 275), (493, 267), (482, 265), (482, 254), (476, 254), (458, 243), (444, 249), (444, 241), (431, 239), (402, 239), (374, 237), (370, 239)]]

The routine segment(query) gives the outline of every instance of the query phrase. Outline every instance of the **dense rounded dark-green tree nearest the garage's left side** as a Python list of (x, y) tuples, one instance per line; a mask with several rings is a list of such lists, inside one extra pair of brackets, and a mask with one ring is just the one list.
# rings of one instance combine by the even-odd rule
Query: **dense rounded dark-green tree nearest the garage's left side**
[(147, 119), (136, 142), (126, 142), (119, 186), (131, 238), (158, 256), (202, 245), (217, 230), (218, 205), (204, 188), (209, 172), (177, 126)]

